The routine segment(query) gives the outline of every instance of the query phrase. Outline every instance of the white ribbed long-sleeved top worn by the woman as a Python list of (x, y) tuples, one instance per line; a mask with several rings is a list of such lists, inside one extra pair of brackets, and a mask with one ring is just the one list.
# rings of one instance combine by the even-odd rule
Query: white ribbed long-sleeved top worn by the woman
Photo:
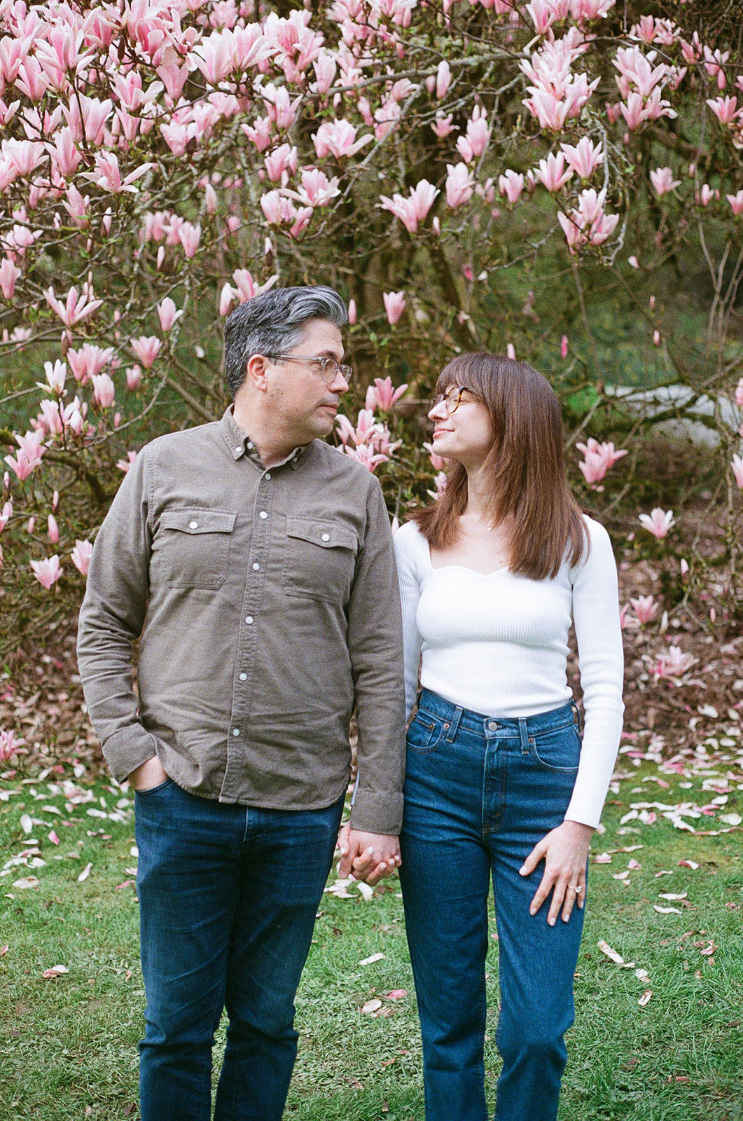
[(483, 575), (462, 565), (434, 568), (425, 537), (409, 521), (394, 535), (408, 716), (418, 689), (486, 716), (533, 716), (565, 704), (568, 631), (575, 623), (585, 728), (566, 818), (596, 826), (622, 733), (622, 632), (616, 565), (609, 534), (585, 518), (591, 552), (555, 578), (508, 568)]

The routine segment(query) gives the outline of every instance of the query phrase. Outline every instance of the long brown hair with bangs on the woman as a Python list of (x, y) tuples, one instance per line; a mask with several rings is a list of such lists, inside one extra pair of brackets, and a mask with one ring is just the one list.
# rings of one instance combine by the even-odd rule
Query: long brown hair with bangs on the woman
[[(493, 446), (484, 471), (490, 481), (490, 519), (511, 518), (512, 572), (544, 580), (556, 576), (569, 547), (578, 564), (589, 547), (581, 509), (565, 473), (563, 418), (555, 391), (527, 362), (494, 354), (459, 354), (444, 367), (436, 392), (464, 386), (490, 413)], [(434, 548), (454, 544), (467, 504), (467, 473), (452, 461), (442, 497), (411, 515)]]

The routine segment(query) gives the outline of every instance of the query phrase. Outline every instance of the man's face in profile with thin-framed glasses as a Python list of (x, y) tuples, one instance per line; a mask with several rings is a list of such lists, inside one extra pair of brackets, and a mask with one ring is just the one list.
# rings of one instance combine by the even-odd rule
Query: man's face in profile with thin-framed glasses
[(277, 423), (295, 444), (308, 444), (328, 436), (338, 410), (341, 395), (349, 388), (338, 371), (328, 383), (321, 374), (319, 362), (299, 362), (299, 358), (333, 358), (343, 361), (341, 332), (327, 319), (310, 319), (301, 340), (286, 351), (292, 361), (266, 359), (268, 402)]

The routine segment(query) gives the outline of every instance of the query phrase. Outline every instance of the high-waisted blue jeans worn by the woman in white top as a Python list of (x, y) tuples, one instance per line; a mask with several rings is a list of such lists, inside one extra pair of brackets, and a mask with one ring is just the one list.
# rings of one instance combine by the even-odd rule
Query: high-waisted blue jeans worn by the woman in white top
[[(487, 895), (493, 881), (503, 1058), (495, 1121), (555, 1121), (574, 1019), (583, 910), (547, 924), (529, 904), (544, 862), (519, 876), (559, 825), (581, 753), (567, 704), (492, 720), (424, 689), (408, 731), (402, 898), (424, 1047), (426, 1121), (486, 1121), (483, 1037)], [(551, 898), (551, 897), (550, 897)]]

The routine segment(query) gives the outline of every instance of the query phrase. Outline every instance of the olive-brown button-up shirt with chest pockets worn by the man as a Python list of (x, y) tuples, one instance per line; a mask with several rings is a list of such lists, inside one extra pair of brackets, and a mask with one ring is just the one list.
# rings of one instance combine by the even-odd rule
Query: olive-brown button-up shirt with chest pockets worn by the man
[(355, 711), (352, 824), (399, 832), (389, 516), (379, 482), (334, 447), (314, 441), (267, 469), (227, 409), (142, 448), (95, 539), (77, 655), (119, 781), (157, 754), (206, 798), (328, 806), (349, 780)]

